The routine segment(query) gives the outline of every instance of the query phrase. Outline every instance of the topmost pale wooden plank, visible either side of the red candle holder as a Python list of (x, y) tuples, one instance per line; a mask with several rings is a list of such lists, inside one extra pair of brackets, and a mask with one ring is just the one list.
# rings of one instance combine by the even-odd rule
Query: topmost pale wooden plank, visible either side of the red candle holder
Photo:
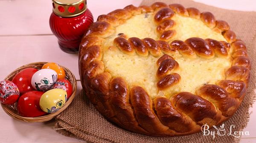
[[(94, 20), (116, 8), (131, 3), (138, 6), (142, 0), (87, 0), (88, 9)], [(51, 0), (0, 0), (0, 35), (52, 34), (49, 17), (52, 13)]]

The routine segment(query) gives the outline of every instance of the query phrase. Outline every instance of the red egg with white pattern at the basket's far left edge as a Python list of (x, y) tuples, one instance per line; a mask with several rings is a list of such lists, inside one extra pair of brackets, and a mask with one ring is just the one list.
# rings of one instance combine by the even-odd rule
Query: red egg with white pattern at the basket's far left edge
[(0, 102), (14, 104), (20, 96), (20, 91), (12, 81), (0, 81)]

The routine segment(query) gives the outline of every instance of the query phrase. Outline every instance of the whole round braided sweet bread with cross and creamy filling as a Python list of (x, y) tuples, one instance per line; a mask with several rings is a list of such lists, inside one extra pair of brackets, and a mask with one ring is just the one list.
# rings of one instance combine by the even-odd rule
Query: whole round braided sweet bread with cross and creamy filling
[(158, 2), (99, 16), (82, 39), (79, 72), (109, 121), (145, 135), (180, 136), (236, 112), (250, 59), (227, 22)]

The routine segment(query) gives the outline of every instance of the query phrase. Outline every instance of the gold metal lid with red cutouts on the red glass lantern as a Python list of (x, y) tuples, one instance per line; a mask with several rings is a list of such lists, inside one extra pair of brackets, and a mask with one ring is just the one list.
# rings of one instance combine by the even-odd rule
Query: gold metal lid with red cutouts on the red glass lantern
[(86, 9), (86, 0), (52, 0), (52, 11), (60, 17), (75, 17)]

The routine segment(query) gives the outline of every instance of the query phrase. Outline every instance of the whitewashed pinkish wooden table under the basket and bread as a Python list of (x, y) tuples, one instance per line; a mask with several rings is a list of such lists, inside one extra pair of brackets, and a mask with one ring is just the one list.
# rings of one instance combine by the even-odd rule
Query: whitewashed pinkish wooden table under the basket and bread
[[(100, 14), (129, 4), (139, 6), (142, 0), (87, 0), (94, 20)], [(241, 10), (256, 11), (253, 0), (195, 0), (208, 5)], [(67, 54), (58, 48), (57, 38), (49, 28), (52, 12), (51, 0), (0, 0), (0, 80), (23, 64), (47, 61), (57, 62), (70, 68), (79, 80), (77, 54)], [(81, 84), (78, 82), (78, 90)], [(256, 104), (250, 109), (250, 121), (244, 131), (241, 143), (256, 142)], [(0, 143), (59, 143), (82, 142), (65, 137), (52, 129), (54, 121), (45, 123), (24, 123), (16, 121), (0, 108)]]

